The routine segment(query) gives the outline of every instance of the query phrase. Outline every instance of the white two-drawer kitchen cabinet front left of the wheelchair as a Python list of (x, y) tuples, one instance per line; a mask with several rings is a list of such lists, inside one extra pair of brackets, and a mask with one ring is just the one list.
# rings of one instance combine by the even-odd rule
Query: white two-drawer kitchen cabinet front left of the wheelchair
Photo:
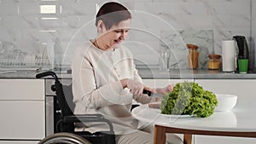
[(0, 143), (37, 143), (43, 139), (44, 79), (0, 79), (0, 91)]

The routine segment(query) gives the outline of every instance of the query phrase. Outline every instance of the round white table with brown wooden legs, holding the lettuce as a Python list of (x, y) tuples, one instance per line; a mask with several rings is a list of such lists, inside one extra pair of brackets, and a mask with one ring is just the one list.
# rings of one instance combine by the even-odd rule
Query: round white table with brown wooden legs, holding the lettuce
[(136, 107), (132, 114), (143, 122), (154, 124), (154, 143), (166, 141), (166, 133), (184, 134), (183, 143), (191, 144), (192, 135), (224, 135), (256, 137), (256, 95), (238, 100), (228, 112), (214, 112), (208, 118), (170, 117), (146, 105)]

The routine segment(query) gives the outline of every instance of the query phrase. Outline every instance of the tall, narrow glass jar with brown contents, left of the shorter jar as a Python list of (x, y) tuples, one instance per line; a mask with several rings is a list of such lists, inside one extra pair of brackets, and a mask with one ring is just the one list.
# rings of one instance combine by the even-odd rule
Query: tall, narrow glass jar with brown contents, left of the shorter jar
[(188, 55), (188, 67), (196, 69), (198, 67), (199, 52), (197, 51), (198, 46), (194, 44), (187, 44), (189, 49)]

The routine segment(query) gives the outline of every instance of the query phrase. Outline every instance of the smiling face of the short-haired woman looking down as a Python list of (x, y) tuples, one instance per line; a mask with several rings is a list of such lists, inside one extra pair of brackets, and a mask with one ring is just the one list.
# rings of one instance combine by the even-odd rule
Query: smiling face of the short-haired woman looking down
[(130, 19), (122, 20), (118, 25), (114, 25), (104, 32), (102, 38), (108, 48), (116, 47), (125, 40), (130, 29), (130, 22)]

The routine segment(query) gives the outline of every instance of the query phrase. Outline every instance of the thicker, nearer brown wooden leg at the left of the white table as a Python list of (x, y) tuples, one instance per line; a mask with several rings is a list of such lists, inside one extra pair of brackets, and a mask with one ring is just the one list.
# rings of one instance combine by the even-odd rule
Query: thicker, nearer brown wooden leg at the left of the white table
[(160, 125), (154, 126), (154, 144), (166, 143), (166, 128)]

